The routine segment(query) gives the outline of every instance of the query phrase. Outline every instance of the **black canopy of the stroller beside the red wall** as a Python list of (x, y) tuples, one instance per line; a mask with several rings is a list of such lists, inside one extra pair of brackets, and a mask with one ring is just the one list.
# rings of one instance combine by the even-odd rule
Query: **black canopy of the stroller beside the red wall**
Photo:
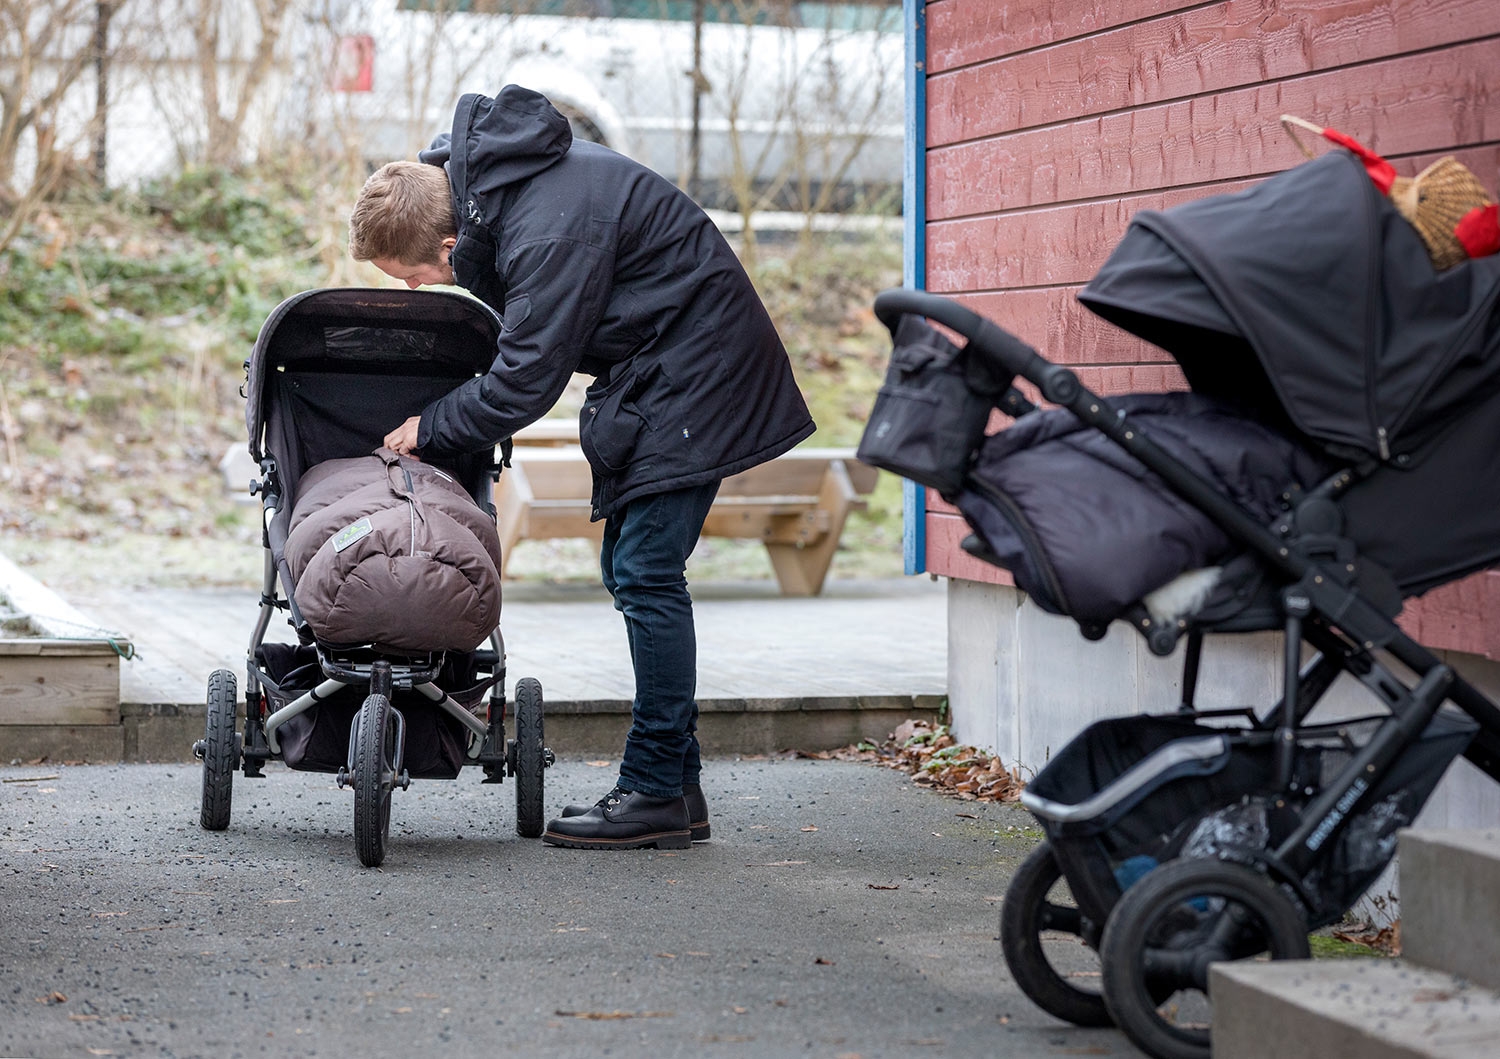
[(1340, 454), (1422, 450), (1500, 390), (1500, 255), (1436, 272), (1346, 150), (1143, 210), (1078, 300)]

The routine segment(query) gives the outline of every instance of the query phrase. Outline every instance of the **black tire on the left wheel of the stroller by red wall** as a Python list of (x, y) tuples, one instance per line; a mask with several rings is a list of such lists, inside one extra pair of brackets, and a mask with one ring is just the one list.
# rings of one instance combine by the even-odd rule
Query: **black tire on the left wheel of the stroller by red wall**
[[(1052, 892), (1062, 880), (1062, 867), (1050, 843), (1042, 843), (1022, 861), (1000, 904), (1000, 951), (1011, 978), (1032, 1002), (1050, 1016), (1074, 1026), (1113, 1026), (1104, 993), (1080, 988), (1053, 968), (1042, 946), (1042, 932), (1072, 934), (1084, 940), (1086, 922), (1077, 904), (1062, 903)], [(1050, 897), (1050, 898), (1048, 898)], [(1066, 900), (1066, 898), (1065, 898)], [(1076, 980), (1086, 981), (1086, 980)], [(1101, 984), (1100, 978), (1094, 980)]]

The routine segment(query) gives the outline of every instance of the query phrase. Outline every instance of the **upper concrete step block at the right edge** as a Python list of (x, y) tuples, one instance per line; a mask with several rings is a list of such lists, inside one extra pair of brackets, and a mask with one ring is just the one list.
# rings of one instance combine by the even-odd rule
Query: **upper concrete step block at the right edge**
[(1500, 830), (1402, 831), (1398, 872), (1402, 958), (1500, 990)]

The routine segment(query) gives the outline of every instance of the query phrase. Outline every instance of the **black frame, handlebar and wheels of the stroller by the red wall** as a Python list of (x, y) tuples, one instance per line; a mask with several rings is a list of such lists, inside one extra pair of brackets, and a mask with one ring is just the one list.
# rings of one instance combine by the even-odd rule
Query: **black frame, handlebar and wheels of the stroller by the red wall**
[[(1074, 802), (1052, 800), (1028, 788), (1022, 804), (1042, 822), (1050, 842), (1017, 872), (1002, 910), (1006, 962), (1023, 992), (1040, 1006), (1077, 1024), (1118, 1023), (1154, 1056), (1206, 1059), (1208, 1030), (1179, 1030), (1166, 1024), (1155, 1008), (1166, 993), (1184, 982), (1184, 987), (1206, 993), (1209, 960), (1202, 946), (1186, 952), (1152, 948), (1158, 936), (1152, 932), (1161, 930), (1172, 909), (1180, 912), (1194, 902), (1204, 902), (1203, 894), (1212, 894), (1220, 902), (1214, 908), (1238, 908), (1242, 920), (1257, 924), (1254, 930), (1242, 924), (1228, 934), (1220, 928), (1214, 958), (1242, 958), (1262, 951), (1274, 958), (1305, 957), (1310, 924), (1317, 926), (1312, 922), (1317, 918), (1330, 920), (1329, 909), (1322, 908), (1318, 894), (1310, 892), (1304, 880), (1320, 858), (1330, 855), (1352, 820), (1376, 801), (1380, 778), (1424, 738), (1438, 708), (1452, 702), (1474, 729), (1472, 738), (1468, 729), (1456, 734), (1461, 742), (1454, 742), (1454, 753), (1466, 742), (1464, 756), (1500, 782), (1500, 706), (1407, 636), (1354, 586), (1353, 544), (1340, 534), (1341, 513), (1335, 502), (1374, 470), (1372, 464), (1340, 470), (1308, 490), (1288, 489), (1286, 513), (1266, 526), (1155, 444), (1120, 408), (1089, 392), (1072, 370), (1050, 363), (970, 309), (922, 291), (892, 290), (876, 297), (874, 312), (892, 336), (906, 315), (926, 316), (957, 332), (968, 340), (963, 352), (970, 368), (978, 357), (984, 369), (1004, 380), (998, 392), (1005, 396), (996, 406), (1011, 416), (1034, 411), (1035, 406), (1011, 386), (1017, 378), (1026, 380), (1042, 398), (1104, 434), (1208, 514), (1274, 572), (1281, 585), (1282, 694), (1263, 714), (1250, 708), (1200, 711), (1194, 699), (1204, 633), (1266, 628), (1266, 624), (1242, 622), (1236, 628), (1228, 620), (1216, 627), (1198, 627), (1191, 618), (1164, 622), (1143, 606), (1126, 612), (1124, 620), (1142, 633), (1156, 656), (1172, 654), (1186, 638), (1182, 700), (1170, 717), (1185, 724), (1194, 718), (1234, 718), (1239, 728), (1222, 729), (1218, 735), (1204, 729), (1194, 738), (1172, 740)], [(964, 484), (986, 489), (974, 476)], [(978, 537), (969, 537), (963, 546), (993, 561)], [(1100, 639), (1106, 628), (1080, 622), (1080, 632), (1088, 639)], [(1304, 644), (1314, 651), (1305, 663)], [(1377, 652), (1386, 652), (1408, 669), (1412, 678), (1398, 676)], [(1374, 732), (1362, 744), (1348, 746), (1347, 760), (1330, 778), (1317, 789), (1299, 790), (1304, 782), (1298, 768), (1299, 740), (1329, 729), (1342, 730), (1342, 726), (1318, 728), (1305, 722), (1344, 672), (1364, 684), (1386, 712), (1364, 718), (1374, 722)], [(1143, 714), (1130, 722), (1160, 718)], [(1280, 842), (1238, 861), (1220, 852), (1203, 860), (1164, 862), (1134, 885), (1120, 885), (1102, 856), (1070, 850), (1066, 843), (1058, 842), (1070, 832), (1100, 832), (1164, 784), (1214, 771), (1230, 753), (1230, 742), (1256, 746), (1270, 754), (1272, 790), (1286, 792), (1288, 798), (1305, 795), (1296, 825)], [(1444, 766), (1450, 756), (1443, 759)], [(1424, 792), (1422, 800), (1425, 796)], [(1052, 885), (1059, 880), (1068, 884), (1077, 908), (1047, 902)], [(1354, 898), (1358, 891), (1350, 903)], [(1344, 910), (1347, 906), (1338, 908), (1334, 918)], [(1102, 998), (1070, 986), (1046, 964), (1038, 940), (1042, 930), (1062, 930), (1101, 951)]]

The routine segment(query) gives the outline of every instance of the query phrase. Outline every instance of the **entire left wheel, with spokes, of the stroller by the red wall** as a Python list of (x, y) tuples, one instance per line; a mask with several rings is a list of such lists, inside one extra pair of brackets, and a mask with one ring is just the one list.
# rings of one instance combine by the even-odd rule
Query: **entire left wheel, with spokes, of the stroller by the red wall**
[(1044, 842), (1016, 868), (1000, 904), (1000, 950), (1011, 976), (1050, 1016), (1074, 1026), (1113, 1026), (1100, 992), (1096, 944), (1098, 927), (1072, 900)]

